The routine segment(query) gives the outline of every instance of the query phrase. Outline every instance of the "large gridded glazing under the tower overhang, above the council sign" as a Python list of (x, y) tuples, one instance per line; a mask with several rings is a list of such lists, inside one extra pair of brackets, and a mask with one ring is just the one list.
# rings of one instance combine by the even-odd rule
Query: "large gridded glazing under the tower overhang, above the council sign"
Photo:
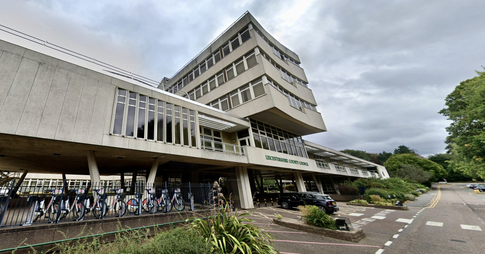
[(301, 136), (254, 119), (250, 123), (256, 147), (308, 158)]

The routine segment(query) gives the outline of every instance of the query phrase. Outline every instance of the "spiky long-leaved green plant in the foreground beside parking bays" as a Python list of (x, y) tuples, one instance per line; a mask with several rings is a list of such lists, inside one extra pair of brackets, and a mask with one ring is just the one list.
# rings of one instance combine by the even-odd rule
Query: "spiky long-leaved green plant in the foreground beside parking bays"
[(230, 254), (279, 253), (271, 241), (273, 236), (253, 226), (253, 220), (244, 218), (249, 213), (229, 215), (227, 206), (219, 209), (209, 220), (195, 219), (191, 225), (210, 246), (211, 251)]

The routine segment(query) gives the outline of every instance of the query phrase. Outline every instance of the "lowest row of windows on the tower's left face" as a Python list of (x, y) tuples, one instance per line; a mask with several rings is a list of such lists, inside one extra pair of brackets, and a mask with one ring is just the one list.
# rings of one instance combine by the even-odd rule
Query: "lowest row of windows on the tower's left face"
[(259, 78), (222, 96), (221, 98), (207, 105), (226, 111), (247, 101), (258, 98), (263, 94), (265, 94), (263, 80), (262, 78)]

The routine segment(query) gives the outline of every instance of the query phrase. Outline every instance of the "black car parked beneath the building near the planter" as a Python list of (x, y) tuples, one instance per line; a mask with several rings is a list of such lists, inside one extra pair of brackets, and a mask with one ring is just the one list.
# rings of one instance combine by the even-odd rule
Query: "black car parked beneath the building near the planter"
[(283, 209), (292, 207), (314, 205), (324, 210), (326, 214), (332, 214), (339, 210), (337, 203), (329, 195), (318, 192), (297, 192), (289, 197), (282, 197), (278, 200), (278, 205)]

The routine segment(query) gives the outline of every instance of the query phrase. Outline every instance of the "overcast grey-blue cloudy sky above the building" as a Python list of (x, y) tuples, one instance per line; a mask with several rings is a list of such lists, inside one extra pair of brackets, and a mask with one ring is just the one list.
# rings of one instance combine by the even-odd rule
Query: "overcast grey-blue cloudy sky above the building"
[[(0, 25), (161, 80), (246, 10), (300, 56), (332, 149), (445, 151), (437, 112), (485, 64), (485, 1), (2, 1)], [(0, 31), (0, 39), (5, 36)]]

